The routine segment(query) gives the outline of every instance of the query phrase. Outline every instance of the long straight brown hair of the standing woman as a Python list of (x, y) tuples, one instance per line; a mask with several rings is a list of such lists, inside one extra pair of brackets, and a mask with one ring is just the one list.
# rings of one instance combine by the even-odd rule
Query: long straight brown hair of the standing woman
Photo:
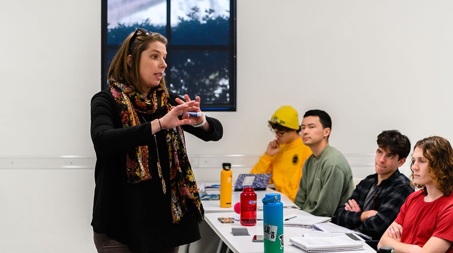
[[(134, 31), (135, 32), (135, 31)], [(149, 45), (154, 41), (158, 41), (167, 46), (168, 40), (162, 34), (152, 32), (150, 34), (137, 33), (134, 41), (131, 44), (131, 38), (134, 35), (131, 32), (122, 42), (118, 51), (112, 59), (112, 63), (108, 69), (107, 78), (109, 83), (120, 82), (126, 83), (129, 86), (135, 87), (139, 92), (143, 92), (142, 83), (140, 83), (140, 59), (142, 52), (147, 50)], [(128, 56), (132, 59), (128, 64)], [(163, 90), (168, 95), (167, 86), (162, 76), (157, 90)]]

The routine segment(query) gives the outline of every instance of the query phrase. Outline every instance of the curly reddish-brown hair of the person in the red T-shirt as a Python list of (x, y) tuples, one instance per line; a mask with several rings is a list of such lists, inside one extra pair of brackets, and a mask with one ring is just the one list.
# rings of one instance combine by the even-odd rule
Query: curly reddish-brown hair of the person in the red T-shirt
[[(430, 136), (418, 141), (415, 146), (423, 151), (423, 156), (428, 160), (428, 175), (437, 185), (437, 189), (445, 195), (450, 195), (453, 191), (453, 148), (450, 143), (442, 137)], [(410, 163), (412, 184), (427, 194), (424, 185), (418, 185), (414, 180), (414, 159)]]

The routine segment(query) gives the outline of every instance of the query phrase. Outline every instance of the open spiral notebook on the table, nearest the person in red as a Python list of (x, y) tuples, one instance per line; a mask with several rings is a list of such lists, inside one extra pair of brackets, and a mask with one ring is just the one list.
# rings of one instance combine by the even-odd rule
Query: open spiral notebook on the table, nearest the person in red
[(346, 235), (333, 237), (291, 237), (293, 246), (306, 252), (331, 252), (363, 250), (363, 243), (355, 241)]

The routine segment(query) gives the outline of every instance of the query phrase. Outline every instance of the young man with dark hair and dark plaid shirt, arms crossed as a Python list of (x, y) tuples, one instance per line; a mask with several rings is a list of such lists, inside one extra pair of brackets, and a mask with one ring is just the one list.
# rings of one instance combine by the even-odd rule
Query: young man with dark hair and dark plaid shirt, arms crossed
[(375, 171), (357, 184), (349, 200), (337, 209), (333, 222), (379, 240), (395, 220), (406, 197), (414, 192), (398, 167), (410, 152), (409, 139), (397, 130), (378, 135)]

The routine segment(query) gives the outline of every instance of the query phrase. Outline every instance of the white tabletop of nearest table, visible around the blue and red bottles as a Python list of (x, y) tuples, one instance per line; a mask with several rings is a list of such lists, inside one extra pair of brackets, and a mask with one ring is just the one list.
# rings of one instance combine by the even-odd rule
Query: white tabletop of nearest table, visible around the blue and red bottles
[[(289, 214), (304, 214), (302, 210), (296, 210), (294, 208), (283, 208), (283, 215)], [(231, 212), (227, 213), (209, 213), (204, 215), (205, 221), (209, 226), (216, 232), (221, 240), (234, 252), (234, 253), (262, 253), (264, 252), (263, 242), (253, 242), (252, 238), (254, 235), (263, 234), (263, 221), (257, 221), (256, 226), (246, 227), (249, 230), (250, 235), (246, 236), (233, 236), (231, 234), (231, 228), (243, 227), (239, 222), (234, 223), (220, 223), (217, 218), (229, 217)], [(292, 246), (290, 243), (290, 237), (301, 236), (304, 232), (312, 231), (309, 228), (298, 228), (298, 227), (283, 227), (283, 238), (284, 238), (284, 252), (304, 252)], [(363, 241), (364, 249), (359, 251), (341, 251), (342, 253), (374, 253), (376, 252), (368, 244)]]

